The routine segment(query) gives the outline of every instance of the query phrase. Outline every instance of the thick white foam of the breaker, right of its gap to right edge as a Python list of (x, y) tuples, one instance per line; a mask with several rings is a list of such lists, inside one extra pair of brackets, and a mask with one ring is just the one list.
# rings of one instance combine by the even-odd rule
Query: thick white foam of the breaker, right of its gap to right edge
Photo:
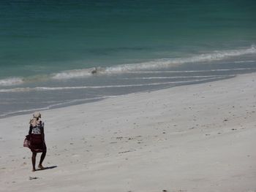
[[(140, 70), (148, 70), (148, 69), (161, 69), (167, 68), (171, 66), (177, 66), (181, 64), (188, 63), (200, 63), (200, 62), (209, 62), (209, 61), (217, 61), (225, 58), (235, 57), (239, 55), (246, 54), (255, 54), (256, 47), (252, 45), (247, 49), (239, 49), (239, 50), (217, 50), (213, 53), (206, 53), (195, 55), (187, 58), (162, 58), (154, 61), (147, 61), (142, 63), (135, 64), (121, 64), (117, 66), (108, 66), (106, 68), (97, 67), (91, 69), (74, 69), (64, 72), (59, 72), (56, 74), (52, 74), (51, 77), (55, 80), (65, 80), (72, 78), (80, 78), (80, 77), (89, 77), (91, 74), (108, 74), (108, 73), (125, 73), (125, 72), (136, 72)], [(246, 62), (246, 61), (244, 61)], [(252, 61), (249, 61), (252, 62)]]

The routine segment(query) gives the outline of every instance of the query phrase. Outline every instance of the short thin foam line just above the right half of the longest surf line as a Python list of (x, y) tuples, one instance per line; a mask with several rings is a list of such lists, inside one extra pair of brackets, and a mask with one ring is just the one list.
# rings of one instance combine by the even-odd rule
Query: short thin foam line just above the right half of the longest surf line
[(154, 79), (185, 79), (206, 77), (233, 77), (234, 75), (198, 75), (198, 76), (176, 76), (176, 77), (127, 77), (124, 80), (154, 80)]

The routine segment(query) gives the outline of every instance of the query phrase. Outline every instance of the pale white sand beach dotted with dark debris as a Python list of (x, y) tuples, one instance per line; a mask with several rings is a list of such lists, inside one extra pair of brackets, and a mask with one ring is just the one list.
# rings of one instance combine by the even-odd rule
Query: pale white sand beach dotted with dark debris
[[(0, 191), (256, 191), (256, 74), (0, 119)], [(37, 164), (39, 162), (37, 155)]]

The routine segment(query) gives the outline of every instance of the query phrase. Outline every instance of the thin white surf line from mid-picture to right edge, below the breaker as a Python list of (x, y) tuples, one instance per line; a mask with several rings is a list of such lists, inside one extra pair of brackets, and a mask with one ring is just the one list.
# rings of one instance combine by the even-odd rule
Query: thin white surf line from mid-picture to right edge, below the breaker
[(240, 71), (240, 70), (252, 70), (256, 67), (251, 68), (234, 68), (234, 69), (208, 69), (208, 70), (185, 70), (185, 71), (137, 71), (137, 72), (125, 72), (125, 73), (193, 73), (193, 72), (228, 72), (228, 71)]

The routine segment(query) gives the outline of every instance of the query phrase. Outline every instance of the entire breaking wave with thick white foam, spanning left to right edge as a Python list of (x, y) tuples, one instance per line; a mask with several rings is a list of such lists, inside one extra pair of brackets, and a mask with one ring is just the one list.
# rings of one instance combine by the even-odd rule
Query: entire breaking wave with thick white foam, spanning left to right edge
[[(53, 74), (42, 74), (38, 77), (10, 77), (7, 79), (0, 80), (0, 86), (10, 86), (10, 85), (19, 85), (23, 82), (31, 81), (40, 81), (40, 80), (69, 80), (73, 78), (82, 78), (82, 77), (91, 77), (92, 74), (113, 74), (113, 73), (143, 73), (143, 70), (150, 69), (163, 69), (170, 66), (177, 66), (180, 64), (188, 63), (200, 63), (208, 61), (217, 61), (225, 58), (235, 57), (239, 55), (246, 54), (255, 54), (256, 46), (252, 45), (247, 49), (240, 50), (222, 50), (214, 51), (213, 53), (206, 53), (195, 55), (187, 58), (162, 58), (154, 61), (148, 61), (137, 64), (121, 64), (117, 66), (108, 66), (108, 67), (95, 67), (89, 69), (74, 69), (69, 71), (57, 72)], [(234, 61), (234, 63), (252, 63), (255, 61)], [(245, 69), (245, 68), (244, 68)], [(237, 70), (244, 70), (243, 68)], [(226, 71), (226, 70), (235, 70), (235, 69), (212, 69), (211, 71)], [(176, 72), (176, 71), (173, 71)], [(187, 71), (182, 71), (187, 72)], [(193, 72), (193, 71), (189, 71)], [(194, 71), (195, 72), (195, 71)], [(199, 72), (199, 71), (198, 71)], [(202, 72), (202, 71), (200, 71)]]

